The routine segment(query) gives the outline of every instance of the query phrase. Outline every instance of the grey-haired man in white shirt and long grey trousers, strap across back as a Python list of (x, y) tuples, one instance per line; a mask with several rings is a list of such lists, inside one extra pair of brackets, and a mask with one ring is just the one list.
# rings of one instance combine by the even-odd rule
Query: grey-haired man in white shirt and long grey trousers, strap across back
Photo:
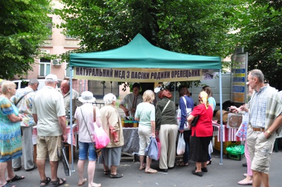
[[(32, 127), (35, 126), (35, 121), (32, 117), (32, 102), (38, 85), (38, 80), (32, 79), (27, 87), (18, 89), (16, 95), (11, 97), (11, 101), (18, 107), (19, 114), (23, 116), (20, 128), (23, 132), (22, 145), (25, 171), (37, 169), (37, 166), (33, 163)], [(13, 159), (13, 171), (18, 171), (21, 167), (21, 158)]]

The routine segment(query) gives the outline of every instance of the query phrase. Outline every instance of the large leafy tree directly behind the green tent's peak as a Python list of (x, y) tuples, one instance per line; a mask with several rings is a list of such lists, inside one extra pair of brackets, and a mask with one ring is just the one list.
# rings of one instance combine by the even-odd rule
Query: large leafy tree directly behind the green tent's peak
[(63, 0), (55, 13), (64, 34), (76, 36), (77, 52), (114, 49), (140, 33), (149, 42), (173, 52), (222, 56), (233, 52), (228, 40), (238, 1), (195, 0)]

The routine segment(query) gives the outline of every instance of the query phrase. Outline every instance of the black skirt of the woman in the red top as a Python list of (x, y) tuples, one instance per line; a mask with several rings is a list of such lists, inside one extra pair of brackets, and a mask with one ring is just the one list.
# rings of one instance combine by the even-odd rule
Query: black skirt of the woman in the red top
[(209, 137), (190, 137), (190, 150), (192, 153), (192, 161), (194, 162), (207, 162), (209, 157), (209, 143), (212, 136)]

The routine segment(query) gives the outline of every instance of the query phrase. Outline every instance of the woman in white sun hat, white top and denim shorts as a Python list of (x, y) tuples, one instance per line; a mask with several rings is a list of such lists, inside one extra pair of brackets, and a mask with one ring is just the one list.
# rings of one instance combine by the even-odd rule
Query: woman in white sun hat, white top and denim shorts
[(83, 183), (87, 182), (87, 179), (83, 178), (83, 171), (85, 160), (87, 159), (88, 155), (88, 186), (99, 187), (101, 186), (101, 183), (94, 183), (93, 181), (97, 154), (92, 142), (92, 135), (94, 134), (94, 121), (96, 121), (97, 126), (102, 126), (100, 119), (101, 114), (99, 112), (99, 108), (93, 106), (95, 97), (93, 97), (92, 92), (82, 92), (81, 97), (79, 97), (78, 100), (82, 102), (82, 106), (76, 109), (74, 115), (76, 119), (75, 123), (77, 123), (79, 127), (78, 186), (81, 186)]

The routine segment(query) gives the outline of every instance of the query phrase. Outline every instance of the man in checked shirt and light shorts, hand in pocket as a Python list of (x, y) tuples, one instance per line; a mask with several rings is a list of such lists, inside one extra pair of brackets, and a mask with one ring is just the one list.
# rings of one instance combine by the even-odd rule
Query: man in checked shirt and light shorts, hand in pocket
[[(247, 147), (252, 160), (252, 186), (269, 186), (270, 156), (276, 134), (281, 132), (282, 103), (277, 92), (264, 85), (264, 74), (250, 71), (247, 85), (254, 90), (250, 101)], [(242, 108), (244, 110), (244, 107)]]

